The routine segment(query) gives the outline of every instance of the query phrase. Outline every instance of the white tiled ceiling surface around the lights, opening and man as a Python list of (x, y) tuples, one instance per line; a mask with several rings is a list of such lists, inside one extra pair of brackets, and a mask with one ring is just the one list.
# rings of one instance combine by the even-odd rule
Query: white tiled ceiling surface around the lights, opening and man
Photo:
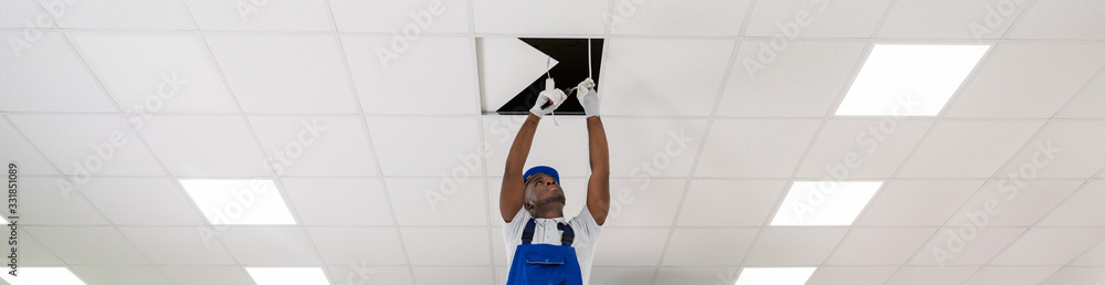
[[(1105, 283), (1103, 1), (241, 2), (0, 2), (20, 266), (505, 283), (497, 191), (522, 117), (481, 113), (475, 38), (596, 36), (618, 213), (591, 284), (780, 266), (818, 266), (808, 284)], [(875, 43), (994, 46), (938, 116), (831, 115)], [(558, 167), (576, 214), (586, 124), (544, 120), (527, 165)], [(844, 179), (886, 181), (853, 226), (768, 225), (849, 154)], [(212, 226), (183, 178), (275, 179), (297, 224)]]

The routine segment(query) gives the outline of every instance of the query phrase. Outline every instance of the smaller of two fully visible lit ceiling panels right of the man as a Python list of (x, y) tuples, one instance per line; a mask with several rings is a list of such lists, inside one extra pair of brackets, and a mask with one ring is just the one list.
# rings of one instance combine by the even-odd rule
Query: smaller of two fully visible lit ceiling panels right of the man
[(799, 181), (771, 225), (851, 225), (883, 182)]

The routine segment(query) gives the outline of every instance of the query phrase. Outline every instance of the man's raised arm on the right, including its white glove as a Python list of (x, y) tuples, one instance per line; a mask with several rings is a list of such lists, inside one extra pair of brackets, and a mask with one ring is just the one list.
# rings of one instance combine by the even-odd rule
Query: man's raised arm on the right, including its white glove
[(583, 80), (576, 87), (579, 104), (587, 116), (588, 154), (591, 160), (591, 178), (587, 180), (587, 209), (594, 222), (602, 225), (610, 211), (610, 149), (607, 147), (607, 131), (599, 118), (599, 93), (591, 78)]

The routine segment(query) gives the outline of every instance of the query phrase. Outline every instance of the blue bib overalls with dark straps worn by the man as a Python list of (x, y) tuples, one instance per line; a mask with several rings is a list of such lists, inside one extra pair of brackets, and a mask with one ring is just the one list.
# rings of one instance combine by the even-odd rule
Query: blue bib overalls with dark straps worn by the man
[(560, 245), (530, 244), (535, 228), (536, 220), (529, 218), (522, 232), (522, 244), (514, 251), (506, 285), (583, 285), (576, 249), (571, 247), (571, 241), (576, 238), (571, 225), (557, 223), (557, 230), (564, 231)]

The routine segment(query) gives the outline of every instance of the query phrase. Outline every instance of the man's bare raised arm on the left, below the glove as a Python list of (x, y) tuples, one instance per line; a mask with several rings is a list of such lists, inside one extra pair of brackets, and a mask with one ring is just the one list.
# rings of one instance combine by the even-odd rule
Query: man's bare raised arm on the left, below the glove
[(526, 123), (522, 124), (522, 129), (514, 137), (511, 152), (506, 155), (503, 188), (498, 193), (498, 211), (503, 214), (505, 222), (511, 222), (525, 202), (526, 187), (525, 181), (522, 180), (522, 168), (526, 166), (529, 147), (534, 145), (534, 134), (537, 134), (537, 123), (540, 119), (534, 114), (526, 117)]

